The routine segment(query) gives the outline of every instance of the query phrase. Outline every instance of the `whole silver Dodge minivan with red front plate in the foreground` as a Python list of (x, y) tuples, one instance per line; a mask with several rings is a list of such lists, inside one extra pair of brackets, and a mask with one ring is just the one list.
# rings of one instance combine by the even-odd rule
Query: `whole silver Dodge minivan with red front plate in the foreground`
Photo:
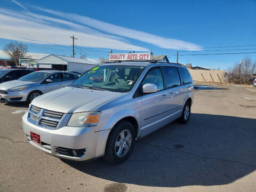
[[(91, 78), (101, 76), (102, 81)], [(193, 81), (171, 63), (110, 63), (73, 84), (34, 99), (22, 117), (29, 143), (48, 154), (84, 161), (127, 159), (135, 139), (169, 124), (187, 123)]]

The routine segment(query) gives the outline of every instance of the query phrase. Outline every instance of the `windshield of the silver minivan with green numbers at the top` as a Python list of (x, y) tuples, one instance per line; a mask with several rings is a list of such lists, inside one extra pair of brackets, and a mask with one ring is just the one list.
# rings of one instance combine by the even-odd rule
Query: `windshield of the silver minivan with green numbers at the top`
[(128, 92), (144, 69), (141, 66), (102, 65), (87, 71), (71, 86)]

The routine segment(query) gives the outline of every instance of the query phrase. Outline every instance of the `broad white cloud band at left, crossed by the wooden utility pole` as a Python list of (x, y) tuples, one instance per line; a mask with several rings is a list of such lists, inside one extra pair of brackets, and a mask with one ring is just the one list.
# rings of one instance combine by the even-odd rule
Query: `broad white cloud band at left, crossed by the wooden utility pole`
[(131, 49), (146, 51), (143, 47), (131, 45), (115, 38), (100, 36), (97, 33), (89, 34), (61, 27), (52, 27), (33, 20), (1, 14), (1, 9), (0, 26), (2, 29), (0, 38), (13, 39), (16, 41), (39, 44), (71, 45), (69, 36), (75, 35), (78, 39), (83, 39), (83, 42), (81, 42), (79, 46), (107, 47), (110, 49), (115, 47), (120, 50)]

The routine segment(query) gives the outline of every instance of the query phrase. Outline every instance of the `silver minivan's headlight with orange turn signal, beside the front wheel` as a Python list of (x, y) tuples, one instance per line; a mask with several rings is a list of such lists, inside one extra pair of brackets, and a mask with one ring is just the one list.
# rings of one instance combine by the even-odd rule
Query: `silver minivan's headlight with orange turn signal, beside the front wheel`
[(71, 115), (68, 126), (79, 126), (79, 127), (88, 127), (96, 126), (100, 118), (100, 112), (83, 112), (83, 113), (74, 113)]

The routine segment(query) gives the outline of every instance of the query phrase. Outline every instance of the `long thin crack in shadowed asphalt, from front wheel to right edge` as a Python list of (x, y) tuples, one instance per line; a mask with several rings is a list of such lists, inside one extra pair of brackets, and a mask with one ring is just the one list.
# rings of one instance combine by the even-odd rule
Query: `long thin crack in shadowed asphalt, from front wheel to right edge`
[[(241, 164), (243, 164), (243, 165), (247, 165), (247, 166), (251, 166), (251, 167), (256, 167), (255, 165), (251, 165), (251, 164), (247, 164), (247, 163), (243, 163), (243, 162), (239, 162), (239, 161), (228, 160), (228, 159), (221, 159), (221, 158), (204, 157), (204, 156), (196, 155), (196, 154), (193, 154), (193, 153), (190, 153), (190, 152), (187, 152), (187, 151), (183, 151), (183, 150), (179, 150), (179, 149), (173, 149), (173, 148), (171, 148), (171, 147), (154, 145), (154, 144), (152, 144), (152, 143), (144, 143), (144, 142), (139, 142), (139, 143), (141, 143), (141, 144), (143, 144), (143, 145), (149, 145), (149, 146), (154, 146), (154, 147), (158, 147), (158, 148), (166, 148), (166, 149), (170, 149), (170, 150), (173, 150), (173, 151), (179, 151), (179, 152), (181, 152), (181, 153), (193, 155), (193, 156), (199, 157), (199, 158), (213, 159), (213, 160), (218, 160), (218, 161), (223, 161), (223, 162), (241, 163)], [(161, 155), (161, 156), (162, 156), (162, 155)]]

